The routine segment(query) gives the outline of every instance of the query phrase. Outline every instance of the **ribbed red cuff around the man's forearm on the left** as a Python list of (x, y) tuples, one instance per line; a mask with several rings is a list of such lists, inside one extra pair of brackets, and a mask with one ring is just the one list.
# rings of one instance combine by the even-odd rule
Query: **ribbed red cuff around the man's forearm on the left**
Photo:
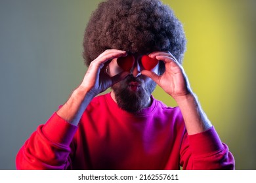
[(77, 130), (77, 126), (69, 124), (56, 112), (54, 112), (53, 116), (49, 118), (46, 124), (42, 128), (43, 134), (53, 142), (60, 143), (63, 145), (70, 145), (75, 131)]

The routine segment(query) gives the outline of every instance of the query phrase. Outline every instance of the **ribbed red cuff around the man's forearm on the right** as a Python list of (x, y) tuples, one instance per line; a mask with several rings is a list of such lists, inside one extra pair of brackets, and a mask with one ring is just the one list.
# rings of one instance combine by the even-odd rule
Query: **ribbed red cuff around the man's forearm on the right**
[(195, 156), (213, 154), (223, 149), (221, 139), (213, 126), (202, 133), (188, 135), (188, 141)]

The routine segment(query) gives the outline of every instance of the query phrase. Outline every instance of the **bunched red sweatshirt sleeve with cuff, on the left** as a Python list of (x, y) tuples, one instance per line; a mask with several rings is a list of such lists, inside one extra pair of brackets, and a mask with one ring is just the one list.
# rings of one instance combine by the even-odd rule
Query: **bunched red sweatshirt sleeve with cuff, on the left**
[(20, 148), (16, 156), (16, 169), (68, 169), (70, 144), (77, 127), (69, 124), (56, 112), (46, 124), (39, 125)]

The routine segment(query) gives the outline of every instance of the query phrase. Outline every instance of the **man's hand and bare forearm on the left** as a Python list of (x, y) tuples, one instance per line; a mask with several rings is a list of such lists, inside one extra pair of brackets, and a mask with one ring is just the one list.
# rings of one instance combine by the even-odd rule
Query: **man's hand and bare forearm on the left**
[(56, 112), (58, 116), (70, 124), (78, 125), (85, 108), (93, 97), (129, 75), (128, 72), (117, 73), (114, 76), (106, 73), (106, 67), (112, 59), (126, 55), (125, 51), (106, 50), (93, 60), (81, 84), (74, 90), (68, 101)]

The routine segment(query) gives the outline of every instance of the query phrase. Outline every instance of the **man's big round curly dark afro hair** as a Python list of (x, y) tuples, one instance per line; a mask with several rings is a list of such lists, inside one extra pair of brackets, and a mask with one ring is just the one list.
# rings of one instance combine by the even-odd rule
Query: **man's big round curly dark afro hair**
[(173, 10), (159, 0), (107, 0), (91, 15), (83, 48), (87, 66), (107, 49), (169, 51), (182, 63), (186, 37)]

